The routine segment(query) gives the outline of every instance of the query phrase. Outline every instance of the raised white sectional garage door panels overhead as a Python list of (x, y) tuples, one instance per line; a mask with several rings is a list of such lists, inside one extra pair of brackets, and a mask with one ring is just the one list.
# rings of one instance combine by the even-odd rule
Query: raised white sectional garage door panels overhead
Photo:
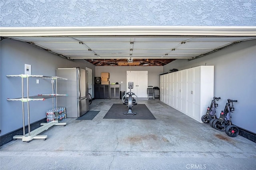
[(252, 36), (20, 36), (70, 59), (192, 59)]

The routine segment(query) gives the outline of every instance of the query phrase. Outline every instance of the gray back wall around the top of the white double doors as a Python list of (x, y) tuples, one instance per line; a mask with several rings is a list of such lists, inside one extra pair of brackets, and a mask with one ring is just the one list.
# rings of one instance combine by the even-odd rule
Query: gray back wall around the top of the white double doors
[(163, 66), (96, 66), (95, 69), (95, 77), (102, 72), (110, 73), (110, 83), (118, 82), (121, 91), (126, 91), (126, 71), (148, 71), (148, 85), (157, 87), (160, 87), (159, 74), (163, 73)]

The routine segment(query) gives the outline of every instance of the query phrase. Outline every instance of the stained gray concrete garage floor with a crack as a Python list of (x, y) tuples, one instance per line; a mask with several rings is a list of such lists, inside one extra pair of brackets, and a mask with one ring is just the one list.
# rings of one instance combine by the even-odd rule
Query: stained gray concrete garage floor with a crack
[(68, 118), (65, 127), (42, 132), (45, 141), (3, 145), (0, 169), (256, 169), (256, 143), (242, 136), (231, 138), (159, 100), (138, 101), (156, 120), (103, 119), (113, 103), (122, 100), (94, 100), (90, 110), (100, 113), (92, 121)]

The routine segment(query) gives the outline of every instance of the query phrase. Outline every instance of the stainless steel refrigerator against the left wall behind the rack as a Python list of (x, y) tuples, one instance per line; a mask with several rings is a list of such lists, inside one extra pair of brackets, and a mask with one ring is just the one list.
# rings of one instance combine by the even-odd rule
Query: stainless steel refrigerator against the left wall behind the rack
[(56, 69), (56, 76), (68, 80), (58, 80), (58, 106), (66, 107), (67, 117), (80, 117), (89, 111), (88, 71), (77, 68)]

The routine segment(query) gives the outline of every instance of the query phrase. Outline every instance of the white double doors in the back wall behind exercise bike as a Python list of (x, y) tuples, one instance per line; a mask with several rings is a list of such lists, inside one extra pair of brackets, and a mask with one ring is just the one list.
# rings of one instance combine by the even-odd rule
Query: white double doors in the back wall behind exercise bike
[(137, 95), (137, 97), (148, 97), (148, 71), (126, 71), (126, 91), (128, 89), (128, 82), (133, 82), (132, 92)]

